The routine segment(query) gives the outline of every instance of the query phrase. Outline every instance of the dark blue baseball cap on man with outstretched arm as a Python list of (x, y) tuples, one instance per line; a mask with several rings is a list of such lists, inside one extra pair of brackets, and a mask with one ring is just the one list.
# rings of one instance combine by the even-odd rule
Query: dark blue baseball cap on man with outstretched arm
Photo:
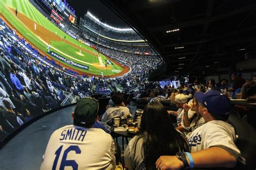
[(230, 99), (219, 91), (196, 92), (194, 98), (212, 114), (226, 116), (230, 113)]

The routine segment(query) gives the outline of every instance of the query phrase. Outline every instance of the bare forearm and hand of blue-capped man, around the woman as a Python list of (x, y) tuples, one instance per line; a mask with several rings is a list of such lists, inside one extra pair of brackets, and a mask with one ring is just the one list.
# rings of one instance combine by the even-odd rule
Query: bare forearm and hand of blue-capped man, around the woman
[[(237, 159), (229, 152), (220, 147), (210, 147), (205, 150), (191, 153), (194, 167), (212, 168), (227, 167), (233, 168), (237, 164)], [(190, 164), (187, 158), (188, 164)], [(157, 169), (181, 169), (183, 162), (176, 156), (161, 156), (156, 161)]]

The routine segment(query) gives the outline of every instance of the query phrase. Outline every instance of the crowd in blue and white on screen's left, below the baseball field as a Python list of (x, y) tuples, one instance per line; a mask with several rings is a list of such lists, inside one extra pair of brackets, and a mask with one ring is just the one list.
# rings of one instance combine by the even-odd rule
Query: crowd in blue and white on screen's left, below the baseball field
[[(14, 33), (5, 25), (0, 28), (0, 107), (1, 139), (20, 125), (46, 111), (59, 108), (64, 99), (72, 94), (69, 103), (102, 91), (107, 84), (100, 77), (77, 76), (71, 69), (58, 65), (54, 60), (41, 56), (39, 61), (11, 38)], [(18, 36), (16, 35), (16, 38)], [(33, 53), (40, 55), (24, 39), (19, 39)], [(110, 92), (110, 91), (109, 91)], [(68, 103), (67, 103), (68, 104)]]

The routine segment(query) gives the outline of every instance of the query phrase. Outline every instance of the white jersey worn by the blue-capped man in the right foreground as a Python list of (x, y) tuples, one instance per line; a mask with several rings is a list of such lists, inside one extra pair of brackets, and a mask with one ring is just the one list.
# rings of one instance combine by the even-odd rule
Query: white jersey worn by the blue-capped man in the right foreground
[(224, 121), (210, 121), (195, 129), (188, 139), (191, 152), (204, 150), (212, 146), (225, 146), (240, 153), (234, 144), (235, 132), (232, 125)]

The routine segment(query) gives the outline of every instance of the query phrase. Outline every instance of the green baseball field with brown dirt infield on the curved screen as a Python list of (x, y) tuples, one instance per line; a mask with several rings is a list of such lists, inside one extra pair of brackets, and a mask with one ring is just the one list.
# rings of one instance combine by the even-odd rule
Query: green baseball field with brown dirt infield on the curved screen
[[(15, 9), (18, 11), (17, 17)], [(49, 56), (60, 65), (76, 70), (80, 74), (102, 75), (103, 72), (104, 76), (115, 77), (129, 72), (129, 68), (98, 53), (96, 49), (60, 30), (50, 22), (49, 17), (44, 17), (29, 0), (0, 0), (0, 17), (39, 49), (43, 55)], [(48, 44), (50, 45), (50, 54), (48, 53)], [(79, 66), (87, 66), (89, 69), (71, 65), (63, 59), (77, 63)], [(112, 64), (107, 63), (106, 60), (111, 61)]]

